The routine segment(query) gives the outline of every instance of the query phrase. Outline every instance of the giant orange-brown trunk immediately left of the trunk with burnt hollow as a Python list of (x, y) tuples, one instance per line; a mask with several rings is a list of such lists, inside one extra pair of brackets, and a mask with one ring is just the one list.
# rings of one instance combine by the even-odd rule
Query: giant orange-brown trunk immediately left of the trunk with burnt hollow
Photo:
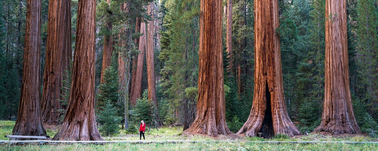
[(225, 118), (221, 0), (201, 0), (197, 112), (184, 133), (231, 134)]

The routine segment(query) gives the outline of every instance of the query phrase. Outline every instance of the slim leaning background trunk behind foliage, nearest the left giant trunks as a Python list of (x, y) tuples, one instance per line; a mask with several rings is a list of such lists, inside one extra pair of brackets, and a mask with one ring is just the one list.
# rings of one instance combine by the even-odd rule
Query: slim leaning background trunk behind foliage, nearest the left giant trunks
[[(110, 0), (106, 1), (110, 5)], [(111, 15), (111, 14), (108, 14)], [(112, 52), (113, 52), (113, 34), (112, 29), (113, 29), (113, 23), (111, 21), (106, 22), (105, 29), (107, 33), (104, 36), (104, 51), (102, 53), (102, 69), (101, 69), (101, 80), (100, 82), (105, 82), (104, 79), (104, 73), (105, 69), (110, 66), (110, 62), (112, 60)]]

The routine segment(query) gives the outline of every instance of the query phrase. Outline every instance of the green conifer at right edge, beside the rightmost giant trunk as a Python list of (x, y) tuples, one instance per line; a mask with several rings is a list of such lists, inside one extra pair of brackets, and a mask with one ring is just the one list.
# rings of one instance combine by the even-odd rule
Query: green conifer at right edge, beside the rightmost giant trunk
[(362, 100), (373, 117), (378, 116), (378, 10), (374, 0), (359, 0), (357, 5), (357, 45), (359, 88)]

